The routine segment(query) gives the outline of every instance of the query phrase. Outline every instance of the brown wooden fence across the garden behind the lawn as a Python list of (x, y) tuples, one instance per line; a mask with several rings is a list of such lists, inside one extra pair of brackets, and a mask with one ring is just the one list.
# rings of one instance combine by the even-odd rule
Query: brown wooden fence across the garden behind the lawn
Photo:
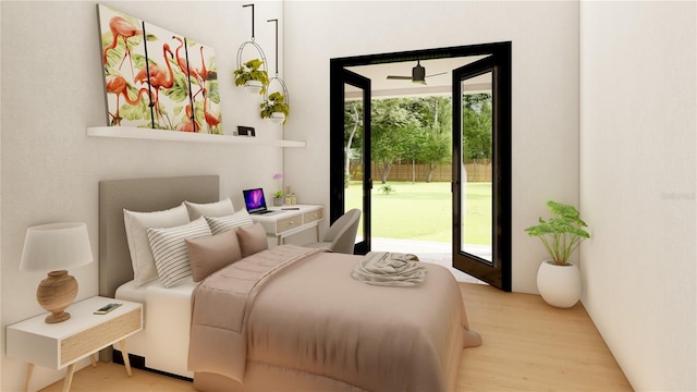
[[(467, 182), (491, 182), (491, 162), (486, 163), (466, 163), (465, 170), (467, 171)], [(427, 167), (426, 164), (412, 164), (399, 163), (392, 164), (388, 181), (414, 181), (426, 182), (427, 180)], [(363, 171), (359, 164), (351, 164), (351, 181), (363, 180)], [(380, 171), (378, 167), (372, 164), (372, 181), (379, 182), (381, 180)], [(439, 164), (431, 174), (431, 182), (450, 182), (452, 180), (452, 166)]]

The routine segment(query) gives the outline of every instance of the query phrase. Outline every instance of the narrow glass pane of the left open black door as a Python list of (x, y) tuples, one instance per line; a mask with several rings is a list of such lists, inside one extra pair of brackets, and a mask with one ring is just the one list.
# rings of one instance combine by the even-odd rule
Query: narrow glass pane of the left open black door
[(356, 243), (363, 238), (363, 94), (352, 85), (344, 85), (344, 211), (357, 208), (360, 221)]

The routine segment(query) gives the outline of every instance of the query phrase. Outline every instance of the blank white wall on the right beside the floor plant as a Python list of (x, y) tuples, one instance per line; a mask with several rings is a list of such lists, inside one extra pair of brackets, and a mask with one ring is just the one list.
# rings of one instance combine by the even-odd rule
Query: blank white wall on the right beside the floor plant
[(695, 391), (697, 10), (583, 2), (583, 303), (635, 390)]

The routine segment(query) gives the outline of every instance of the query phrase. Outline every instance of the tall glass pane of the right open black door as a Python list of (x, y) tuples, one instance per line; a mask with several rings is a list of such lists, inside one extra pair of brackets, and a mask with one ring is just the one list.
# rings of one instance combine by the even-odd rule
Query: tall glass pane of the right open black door
[(492, 261), (492, 73), (462, 81), (461, 252)]

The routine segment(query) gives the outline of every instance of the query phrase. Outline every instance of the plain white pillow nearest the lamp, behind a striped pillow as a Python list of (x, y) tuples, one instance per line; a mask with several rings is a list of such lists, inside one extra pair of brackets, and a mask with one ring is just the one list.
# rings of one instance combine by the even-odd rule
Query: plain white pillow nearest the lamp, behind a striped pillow
[(124, 209), (123, 220), (131, 250), (133, 279), (136, 285), (142, 286), (158, 278), (147, 228), (171, 228), (188, 223), (188, 212), (183, 203), (164, 211), (135, 212)]

